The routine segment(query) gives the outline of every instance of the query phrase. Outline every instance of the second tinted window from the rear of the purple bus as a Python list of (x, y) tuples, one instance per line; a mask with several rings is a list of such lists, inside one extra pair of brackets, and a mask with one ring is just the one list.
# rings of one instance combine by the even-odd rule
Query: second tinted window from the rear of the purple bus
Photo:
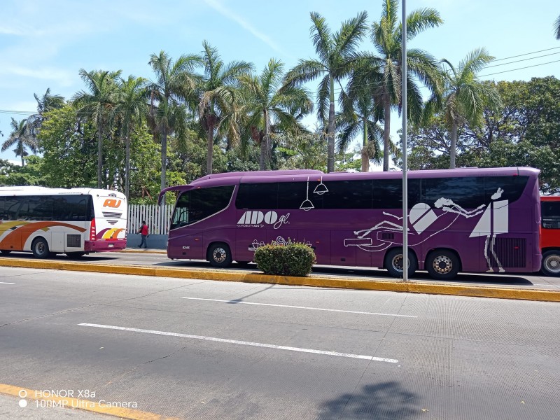
[(466, 176), (424, 179), (422, 181), (422, 201), (433, 206), (440, 198), (453, 200), (463, 209), (476, 209), (484, 203), (484, 178)]

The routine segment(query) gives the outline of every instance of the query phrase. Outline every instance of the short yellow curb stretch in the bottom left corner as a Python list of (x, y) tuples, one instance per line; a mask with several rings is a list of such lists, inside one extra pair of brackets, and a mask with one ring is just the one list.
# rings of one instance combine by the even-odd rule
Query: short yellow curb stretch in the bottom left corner
[(83, 409), (84, 411), (94, 412), (98, 414), (108, 414), (109, 416), (120, 417), (121, 419), (132, 419), (132, 420), (179, 420), (177, 417), (167, 417), (160, 414), (154, 414), (150, 412), (143, 412), (139, 409), (134, 408), (123, 408), (123, 407), (107, 407), (110, 405), (109, 402), (82, 400), (78, 398), (70, 397), (55, 397), (55, 396), (43, 396), (43, 393), (39, 390), (21, 388), (19, 386), (12, 386), (6, 384), (0, 384), (0, 393), (11, 395), (13, 397), (18, 397), (20, 399), (36, 400), (36, 401), (46, 401), (52, 402), (55, 407), (69, 408), (69, 409)]

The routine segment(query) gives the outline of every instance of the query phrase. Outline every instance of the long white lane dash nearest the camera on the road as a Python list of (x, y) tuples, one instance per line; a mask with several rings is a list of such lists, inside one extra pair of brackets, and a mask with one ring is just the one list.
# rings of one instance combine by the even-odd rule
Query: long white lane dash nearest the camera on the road
[(338, 351), (324, 351), (324, 350), (314, 350), (314, 349), (301, 349), (300, 347), (277, 346), (276, 344), (244, 342), (244, 341), (238, 341), (237, 339), (204, 337), (204, 335), (180, 334), (179, 332), (143, 330), (141, 328), (117, 327), (115, 325), (102, 325), (102, 324), (92, 324), (92, 323), (80, 323), (78, 325), (81, 325), (83, 327), (106, 328), (108, 330), (146, 332), (148, 334), (170, 335), (172, 337), (204, 339), (206, 341), (213, 341), (213, 342), (220, 342), (220, 343), (241, 344), (241, 345), (244, 345), (244, 346), (253, 346), (253, 347), (265, 347), (266, 349), (300, 351), (302, 353), (316, 353), (316, 354), (324, 354), (326, 356), (339, 356), (339, 357), (347, 357), (347, 358), (359, 358), (359, 359), (364, 359), (364, 360), (376, 360), (377, 362), (398, 363), (397, 359), (374, 357), (374, 356), (364, 356), (363, 354), (339, 353)]

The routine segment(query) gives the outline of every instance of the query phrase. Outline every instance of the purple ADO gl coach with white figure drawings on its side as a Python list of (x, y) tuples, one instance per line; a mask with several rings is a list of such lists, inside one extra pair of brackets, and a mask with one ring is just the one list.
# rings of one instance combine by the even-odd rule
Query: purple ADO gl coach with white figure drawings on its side
[[(409, 276), (540, 269), (538, 169), (408, 172)], [(311, 246), (317, 264), (402, 277), (402, 172), (315, 170), (207, 175), (179, 193), (167, 256), (245, 265), (276, 241)]]

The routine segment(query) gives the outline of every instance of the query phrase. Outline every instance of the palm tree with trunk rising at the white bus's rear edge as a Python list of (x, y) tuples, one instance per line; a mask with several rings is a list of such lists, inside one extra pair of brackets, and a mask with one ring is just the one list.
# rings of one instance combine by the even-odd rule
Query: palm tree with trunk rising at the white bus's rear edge
[(141, 125), (148, 114), (146, 79), (128, 76), (120, 79), (119, 99), (115, 113), (120, 120), (121, 137), (125, 141), (125, 195), (130, 195), (130, 133), (134, 125)]

